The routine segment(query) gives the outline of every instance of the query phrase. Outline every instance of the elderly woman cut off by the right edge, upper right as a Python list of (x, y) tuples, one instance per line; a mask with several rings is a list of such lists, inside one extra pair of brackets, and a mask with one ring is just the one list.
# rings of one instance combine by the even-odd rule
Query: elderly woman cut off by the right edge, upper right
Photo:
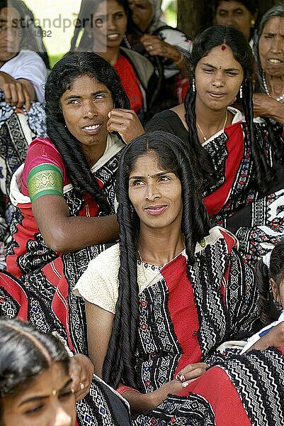
[[(254, 50), (258, 65), (254, 115), (266, 116), (284, 125), (284, 4), (263, 16)], [(261, 92), (261, 93), (259, 93)]]

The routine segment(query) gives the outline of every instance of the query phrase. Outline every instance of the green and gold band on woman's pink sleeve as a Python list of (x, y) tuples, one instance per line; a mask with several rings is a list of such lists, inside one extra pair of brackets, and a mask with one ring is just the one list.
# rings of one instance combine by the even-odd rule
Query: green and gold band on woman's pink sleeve
[(35, 166), (28, 174), (27, 185), (31, 202), (47, 194), (63, 197), (63, 174), (56, 165)]

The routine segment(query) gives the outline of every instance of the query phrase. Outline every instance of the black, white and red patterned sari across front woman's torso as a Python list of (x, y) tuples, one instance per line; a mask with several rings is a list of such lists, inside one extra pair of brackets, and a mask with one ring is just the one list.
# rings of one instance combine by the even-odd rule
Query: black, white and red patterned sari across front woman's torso
[[(140, 293), (135, 366), (142, 393), (174, 380), (188, 364), (209, 359), (224, 340), (254, 327), (254, 275), (234, 250), (236, 239), (216, 227), (204, 244), (189, 272), (181, 253)], [(187, 389), (179, 395), (185, 394)]]

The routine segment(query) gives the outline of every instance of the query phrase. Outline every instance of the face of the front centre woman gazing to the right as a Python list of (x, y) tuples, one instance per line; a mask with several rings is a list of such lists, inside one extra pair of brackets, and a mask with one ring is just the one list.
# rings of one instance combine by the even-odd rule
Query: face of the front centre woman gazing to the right
[(181, 181), (171, 171), (161, 169), (154, 151), (137, 158), (130, 172), (128, 194), (140, 218), (140, 229), (181, 229)]

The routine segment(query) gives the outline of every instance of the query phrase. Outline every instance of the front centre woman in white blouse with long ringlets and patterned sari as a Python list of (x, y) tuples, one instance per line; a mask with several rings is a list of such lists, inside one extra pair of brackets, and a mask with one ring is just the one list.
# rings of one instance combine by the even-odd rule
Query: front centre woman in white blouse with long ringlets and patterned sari
[[(258, 317), (254, 274), (237, 239), (210, 229), (201, 182), (195, 155), (179, 138), (161, 131), (135, 138), (118, 168), (120, 242), (93, 259), (75, 287), (85, 299), (95, 372), (132, 413), (143, 413), (135, 425), (215, 425), (224, 406), (218, 412), (212, 395), (227, 407), (237, 381), (226, 383), (224, 367), (214, 382), (207, 363), (221, 342), (249, 334)], [(193, 382), (197, 393), (210, 398), (215, 414), (190, 395), (198, 376), (205, 384)], [(212, 388), (221, 381), (216, 398)], [(223, 425), (247, 425), (241, 401), (238, 410)]]

